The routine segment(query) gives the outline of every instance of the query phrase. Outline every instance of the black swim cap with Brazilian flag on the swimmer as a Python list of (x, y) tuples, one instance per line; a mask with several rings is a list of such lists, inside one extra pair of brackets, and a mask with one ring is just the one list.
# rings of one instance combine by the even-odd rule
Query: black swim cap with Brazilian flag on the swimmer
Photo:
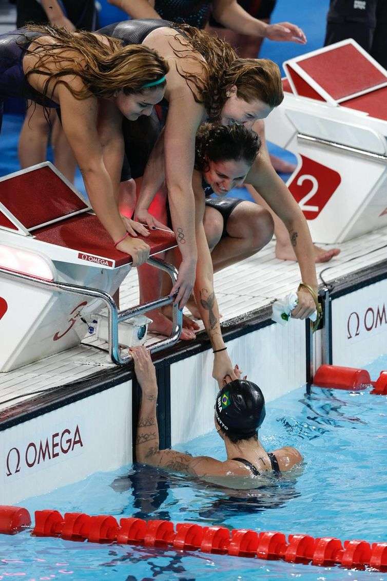
[(265, 397), (258, 385), (246, 379), (234, 379), (216, 396), (215, 417), (227, 433), (252, 437), (265, 419)]

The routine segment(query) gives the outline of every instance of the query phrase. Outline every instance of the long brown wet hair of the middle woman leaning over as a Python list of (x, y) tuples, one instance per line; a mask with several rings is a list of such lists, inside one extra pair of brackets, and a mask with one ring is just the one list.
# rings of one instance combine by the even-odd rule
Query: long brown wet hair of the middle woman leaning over
[[(197, 103), (203, 103), (209, 119), (220, 117), (227, 100), (227, 91), (235, 85), (238, 97), (251, 102), (259, 99), (269, 107), (277, 107), (284, 98), (280, 69), (268, 59), (240, 59), (233, 47), (218, 37), (212, 37), (204, 30), (187, 24), (174, 24), (173, 28), (182, 31), (176, 37), (182, 49), (174, 49), (179, 58), (192, 56), (187, 49), (193, 48), (204, 57), (200, 60), (204, 78), (187, 73), (176, 67), (185, 78)], [(199, 60), (199, 59), (198, 59)]]

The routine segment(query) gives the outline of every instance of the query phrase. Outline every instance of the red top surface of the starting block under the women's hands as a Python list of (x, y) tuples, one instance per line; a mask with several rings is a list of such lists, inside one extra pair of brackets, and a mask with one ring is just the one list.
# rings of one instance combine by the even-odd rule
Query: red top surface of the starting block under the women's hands
[[(108, 267), (132, 262), (129, 254), (114, 248), (103, 225), (88, 211), (91, 206), (49, 162), (2, 178), (0, 204), (0, 231), (2, 227), (18, 231), (20, 223), (24, 234), (75, 250), (79, 260)], [(25, 237), (17, 236), (23, 245)], [(151, 230), (150, 236), (139, 238), (150, 246), (151, 256), (176, 246), (175, 235), (168, 231)]]

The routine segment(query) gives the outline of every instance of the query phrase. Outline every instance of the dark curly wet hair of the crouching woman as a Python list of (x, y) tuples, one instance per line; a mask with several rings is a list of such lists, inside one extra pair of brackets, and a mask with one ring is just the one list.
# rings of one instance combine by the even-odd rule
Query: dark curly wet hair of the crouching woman
[(195, 144), (195, 169), (208, 169), (208, 160), (223, 162), (244, 160), (252, 165), (261, 149), (261, 138), (243, 125), (203, 123), (198, 128)]

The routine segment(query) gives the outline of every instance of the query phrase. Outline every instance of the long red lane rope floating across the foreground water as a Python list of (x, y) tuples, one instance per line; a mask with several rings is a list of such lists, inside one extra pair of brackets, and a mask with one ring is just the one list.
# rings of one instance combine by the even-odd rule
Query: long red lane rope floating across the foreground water
[[(12, 535), (30, 526), (25, 508), (0, 506), (0, 533)], [(288, 535), (277, 531), (257, 533), (255, 530), (224, 526), (200, 526), (171, 521), (143, 521), (140, 518), (121, 518), (99, 515), (91, 517), (80, 512), (66, 512), (64, 517), (55, 510), (35, 512), (32, 535), (61, 537), (90, 543), (140, 544), (146, 547), (173, 547), (176, 550), (229, 554), (234, 557), (258, 557), (265, 560), (284, 560), (288, 563), (312, 565), (341, 565), (346, 568), (370, 566), (387, 571), (387, 542), (367, 543), (364, 540), (341, 540), (335, 537), (314, 539), (310, 535)]]

